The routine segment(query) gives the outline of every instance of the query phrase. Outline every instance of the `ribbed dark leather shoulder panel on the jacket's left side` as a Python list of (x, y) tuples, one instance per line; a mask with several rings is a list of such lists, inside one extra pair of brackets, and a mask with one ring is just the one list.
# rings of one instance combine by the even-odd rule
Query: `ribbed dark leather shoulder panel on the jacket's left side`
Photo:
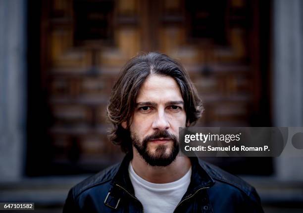
[(72, 187), (70, 191), (73, 194), (74, 199), (94, 187), (108, 184), (117, 173), (119, 166), (120, 163), (112, 165)]

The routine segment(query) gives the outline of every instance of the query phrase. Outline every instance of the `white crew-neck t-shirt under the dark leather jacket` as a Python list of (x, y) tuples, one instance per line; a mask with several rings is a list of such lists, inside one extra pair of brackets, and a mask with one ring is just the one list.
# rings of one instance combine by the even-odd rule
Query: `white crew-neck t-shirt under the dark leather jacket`
[(172, 213), (185, 194), (192, 175), (192, 168), (179, 180), (170, 183), (151, 183), (128, 167), (135, 196), (142, 203), (146, 213)]

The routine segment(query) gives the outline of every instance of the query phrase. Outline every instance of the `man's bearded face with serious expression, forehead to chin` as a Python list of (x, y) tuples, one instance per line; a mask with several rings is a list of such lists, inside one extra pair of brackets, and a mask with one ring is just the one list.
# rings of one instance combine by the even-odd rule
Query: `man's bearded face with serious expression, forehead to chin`
[(186, 113), (175, 80), (151, 75), (142, 85), (130, 126), (133, 146), (151, 166), (168, 166), (178, 152), (178, 129)]

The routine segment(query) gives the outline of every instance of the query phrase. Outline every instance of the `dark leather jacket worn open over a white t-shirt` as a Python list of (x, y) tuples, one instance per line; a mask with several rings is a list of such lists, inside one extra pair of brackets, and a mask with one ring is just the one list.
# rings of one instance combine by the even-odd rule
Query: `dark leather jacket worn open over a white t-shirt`
[[(128, 175), (131, 155), (74, 186), (63, 213), (141, 213)], [(174, 213), (263, 213), (255, 189), (244, 180), (198, 158), (191, 182)]]

